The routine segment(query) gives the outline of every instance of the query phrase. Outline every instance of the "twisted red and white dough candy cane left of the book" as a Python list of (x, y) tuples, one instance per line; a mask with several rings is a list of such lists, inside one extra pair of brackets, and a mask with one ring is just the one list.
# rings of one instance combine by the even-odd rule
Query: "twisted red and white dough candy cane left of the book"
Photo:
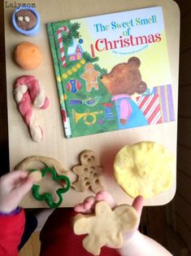
[(40, 142), (43, 138), (41, 126), (34, 118), (33, 107), (45, 109), (49, 105), (49, 99), (44, 90), (39, 86), (36, 77), (23, 76), (16, 79), (14, 84), (15, 101), (24, 122), (28, 126), (30, 135), (35, 142)]

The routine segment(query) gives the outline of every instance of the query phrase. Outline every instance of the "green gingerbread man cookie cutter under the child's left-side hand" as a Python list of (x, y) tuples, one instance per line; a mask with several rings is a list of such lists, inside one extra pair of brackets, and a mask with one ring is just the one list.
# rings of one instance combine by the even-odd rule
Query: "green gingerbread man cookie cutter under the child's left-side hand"
[[(30, 170), (31, 172), (35, 170)], [(33, 184), (32, 191), (33, 191), (33, 196), (37, 201), (46, 201), (46, 204), (50, 206), (50, 208), (58, 208), (59, 205), (62, 204), (63, 202), (63, 196), (62, 194), (67, 192), (71, 188), (71, 182), (70, 179), (65, 176), (65, 175), (58, 175), (56, 171), (53, 168), (46, 167), (45, 169), (41, 170), (41, 176), (45, 177), (47, 173), (52, 174), (52, 178), (54, 181), (59, 182), (59, 181), (65, 181), (66, 182), (66, 187), (65, 188), (59, 188), (56, 190), (57, 195), (59, 196), (59, 201), (54, 202), (52, 200), (52, 196), (50, 192), (46, 192), (44, 194), (40, 194), (39, 189), (40, 186), (37, 184)]]

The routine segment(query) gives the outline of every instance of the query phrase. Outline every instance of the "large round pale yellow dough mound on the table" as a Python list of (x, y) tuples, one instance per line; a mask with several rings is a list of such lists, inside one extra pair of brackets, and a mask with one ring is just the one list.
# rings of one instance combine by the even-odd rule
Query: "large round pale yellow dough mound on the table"
[(133, 198), (150, 198), (170, 188), (174, 168), (171, 152), (150, 141), (121, 148), (114, 162), (117, 183)]

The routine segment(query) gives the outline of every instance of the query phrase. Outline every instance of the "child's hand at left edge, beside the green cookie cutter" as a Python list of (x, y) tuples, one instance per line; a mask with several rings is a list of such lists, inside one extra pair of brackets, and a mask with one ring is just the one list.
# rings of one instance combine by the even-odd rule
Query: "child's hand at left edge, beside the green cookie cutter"
[(28, 171), (14, 170), (0, 178), (0, 211), (8, 214), (19, 205), (23, 196), (32, 188), (34, 178)]

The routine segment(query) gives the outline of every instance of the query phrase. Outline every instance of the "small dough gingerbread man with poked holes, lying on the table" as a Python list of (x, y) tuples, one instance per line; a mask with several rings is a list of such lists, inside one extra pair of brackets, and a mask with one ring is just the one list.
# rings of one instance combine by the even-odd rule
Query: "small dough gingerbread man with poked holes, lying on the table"
[(94, 193), (103, 189), (100, 175), (102, 167), (97, 165), (95, 152), (85, 150), (80, 153), (80, 165), (72, 167), (73, 172), (78, 175), (78, 179), (72, 184), (76, 191), (84, 192), (90, 188)]

